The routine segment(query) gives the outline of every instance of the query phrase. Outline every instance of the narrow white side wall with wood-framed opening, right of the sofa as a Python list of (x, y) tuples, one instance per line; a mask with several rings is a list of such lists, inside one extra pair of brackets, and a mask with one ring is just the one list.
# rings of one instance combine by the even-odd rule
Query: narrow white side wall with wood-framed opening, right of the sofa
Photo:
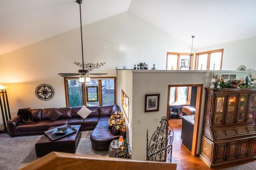
[[(130, 151), (132, 151), (132, 70), (118, 70), (117, 76), (117, 96), (118, 104), (121, 111), (124, 112), (122, 108), (122, 90), (129, 97), (129, 119), (126, 117), (127, 122), (127, 133), (129, 138)], [(125, 114), (125, 113), (124, 113)]]

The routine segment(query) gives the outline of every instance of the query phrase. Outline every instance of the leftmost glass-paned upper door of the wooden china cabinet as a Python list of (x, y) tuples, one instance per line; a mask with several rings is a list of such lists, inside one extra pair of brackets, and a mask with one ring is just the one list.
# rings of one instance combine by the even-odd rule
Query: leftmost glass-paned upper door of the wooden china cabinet
[(213, 124), (220, 125), (224, 122), (224, 112), (225, 112), (226, 96), (217, 96), (215, 100), (215, 109)]

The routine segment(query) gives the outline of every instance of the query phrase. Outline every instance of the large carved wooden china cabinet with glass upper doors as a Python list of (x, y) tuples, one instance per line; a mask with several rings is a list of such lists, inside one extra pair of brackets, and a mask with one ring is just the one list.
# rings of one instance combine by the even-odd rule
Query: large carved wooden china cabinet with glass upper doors
[(256, 159), (256, 89), (205, 89), (200, 158), (211, 168)]

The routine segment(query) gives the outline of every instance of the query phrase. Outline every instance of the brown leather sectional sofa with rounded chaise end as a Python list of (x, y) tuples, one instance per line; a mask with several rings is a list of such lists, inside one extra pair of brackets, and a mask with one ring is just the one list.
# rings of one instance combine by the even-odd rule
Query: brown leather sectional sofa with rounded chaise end
[(20, 115), (17, 115), (7, 121), (8, 132), (11, 137), (18, 135), (35, 135), (44, 134), (50, 127), (61, 126), (65, 124), (69, 125), (81, 125), (82, 131), (92, 130), (91, 141), (94, 149), (104, 150), (108, 149), (110, 142), (114, 139), (118, 139), (119, 135), (116, 135), (111, 129), (108, 128), (108, 119), (117, 111), (118, 107), (113, 106), (93, 106), (87, 107), (92, 113), (83, 119), (77, 112), (81, 107), (63, 107), (58, 108), (63, 116), (56, 121), (52, 121), (46, 117), (46, 114), (53, 108), (47, 109), (31, 109), (33, 122), (29, 124), (19, 125), (21, 121)]

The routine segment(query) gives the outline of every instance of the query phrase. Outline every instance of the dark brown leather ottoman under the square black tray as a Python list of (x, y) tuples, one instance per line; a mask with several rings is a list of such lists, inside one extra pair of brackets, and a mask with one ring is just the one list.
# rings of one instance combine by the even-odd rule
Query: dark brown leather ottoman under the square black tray
[[(81, 125), (71, 125), (77, 131), (68, 136), (57, 139), (56, 141), (51, 141), (45, 134), (37, 141), (36, 156), (41, 157), (52, 151), (56, 152), (69, 152), (75, 153), (78, 141), (81, 137)], [(56, 127), (50, 127), (54, 129)], [(48, 129), (48, 130), (50, 130)]]

